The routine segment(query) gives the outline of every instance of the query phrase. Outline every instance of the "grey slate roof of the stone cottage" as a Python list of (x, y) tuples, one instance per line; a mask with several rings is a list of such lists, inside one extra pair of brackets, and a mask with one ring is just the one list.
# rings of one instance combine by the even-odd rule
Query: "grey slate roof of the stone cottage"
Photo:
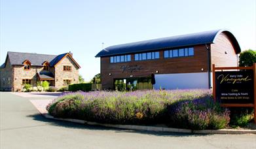
[[(36, 54), (36, 53), (22, 53), (22, 52), (7, 52), (7, 56), (10, 59), (10, 65), (23, 65), (23, 62), (29, 60), (32, 66), (43, 66), (45, 61), (50, 63), (50, 67), (53, 67), (60, 59), (62, 59), (65, 54), (47, 55), (47, 54)], [(5, 63), (1, 65), (5, 67)]]

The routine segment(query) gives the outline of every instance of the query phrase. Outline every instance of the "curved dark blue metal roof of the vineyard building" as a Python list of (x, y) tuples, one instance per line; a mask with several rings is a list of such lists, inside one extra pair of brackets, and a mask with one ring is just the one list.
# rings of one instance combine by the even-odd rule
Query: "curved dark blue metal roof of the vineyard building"
[(215, 42), (217, 35), (226, 33), (236, 49), (236, 54), (241, 52), (240, 46), (236, 38), (230, 31), (226, 29), (218, 29), (213, 31), (204, 31), (200, 33), (191, 33), (187, 35), (178, 35), (174, 37), (166, 37), (161, 39), (152, 39), (147, 41), (132, 42), (127, 44), (119, 44), (109, 46), (96, 55), (97, 57), (113, 56), (119, 54), (130, 54), (136, 52), (147, 52), (160, 50), (163, 48), (176, 48), (181, 46), (194, 46), (198, 44), (212, 44)]

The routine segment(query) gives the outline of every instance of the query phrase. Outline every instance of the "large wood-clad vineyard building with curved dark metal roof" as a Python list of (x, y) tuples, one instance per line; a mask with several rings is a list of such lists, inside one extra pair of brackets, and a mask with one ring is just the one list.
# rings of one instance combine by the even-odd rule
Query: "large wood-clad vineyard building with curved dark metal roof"
[(211, 88), (211, 65), (236, 67), (240, 52), (234, 35), (219, 29), (109, 46), (96, 58), (105, 90), (167, 90)]

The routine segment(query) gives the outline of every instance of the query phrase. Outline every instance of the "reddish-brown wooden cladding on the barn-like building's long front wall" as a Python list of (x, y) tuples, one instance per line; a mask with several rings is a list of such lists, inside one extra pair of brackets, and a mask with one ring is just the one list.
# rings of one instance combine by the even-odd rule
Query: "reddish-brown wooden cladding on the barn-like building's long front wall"
[[(205, 45), (194, 46), (194, 56), (164, 58), (164, 50), (159, 51), (159, 59), (126, 63), (109, 63), (109, 57), (101, 58), (101, 84), (103, 89), (113, 89), (114, 78), (147, 77), (151, 73), (201, 73), (208, 71), (208, 50)], [(125, 70), (124, 70), (125, 69)], [(203, 71), (202, 71), (203, 69)], [(111, 73), (111, 75), (109, 75)]]

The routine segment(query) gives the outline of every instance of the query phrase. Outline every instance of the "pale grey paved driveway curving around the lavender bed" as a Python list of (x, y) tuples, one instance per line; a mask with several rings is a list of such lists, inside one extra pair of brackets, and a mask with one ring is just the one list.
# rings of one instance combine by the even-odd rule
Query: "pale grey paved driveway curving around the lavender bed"
[(256, 148), (256, 135), (127, 131), (43, 118), (35, 99), (0, 93), (0, 148)]

